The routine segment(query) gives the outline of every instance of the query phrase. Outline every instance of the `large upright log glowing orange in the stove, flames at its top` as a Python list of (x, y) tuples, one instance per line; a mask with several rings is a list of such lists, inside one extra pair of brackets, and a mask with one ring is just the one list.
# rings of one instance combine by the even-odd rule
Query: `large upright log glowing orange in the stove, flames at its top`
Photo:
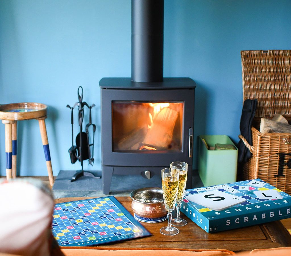
[(178, 111), (164, 107), (153, 119), (153, 123), (143, 140), (143, 145), (157, 149), (168, 149), (173, 140), (173, 130)]

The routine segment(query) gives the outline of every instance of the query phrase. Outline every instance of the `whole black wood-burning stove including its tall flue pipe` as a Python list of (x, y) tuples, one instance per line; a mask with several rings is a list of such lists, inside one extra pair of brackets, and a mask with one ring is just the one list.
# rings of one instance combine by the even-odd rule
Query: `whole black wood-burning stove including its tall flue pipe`
[(191, 187), (195, 82), (163, 78), (164, 1), (132, 0), (132, 77), (102, 78), (103, 193), (113, 174), (161, 176), (188, 163)]

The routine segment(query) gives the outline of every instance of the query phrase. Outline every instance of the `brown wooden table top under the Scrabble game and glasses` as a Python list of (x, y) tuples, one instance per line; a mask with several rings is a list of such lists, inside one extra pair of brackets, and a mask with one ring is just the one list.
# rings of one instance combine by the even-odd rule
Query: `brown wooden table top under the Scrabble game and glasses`
[[(94, 197), (66, 197), (56, 199), (55, 203), (91, 198)], [(116, 199), (133, 215), (131, 209), (132, 199), (130, 197), (116, 197)], [(152, 233), (152, 236), (110, 243), (105, 246), (125, 248), (227, 249), (231, 251), (249, 251), (257, 248), (291, 246), (291, 236), (280, 221), (208, 234), (184, 216), (183, 213), (181, 213), (181, 217), (187, 219), (188, 224), (179, 228), (180, 233), (178, 235), (165, 236), (159, 232), (161, 227), (167, 225), (166, 221), (160, 223), (141, 223)]]

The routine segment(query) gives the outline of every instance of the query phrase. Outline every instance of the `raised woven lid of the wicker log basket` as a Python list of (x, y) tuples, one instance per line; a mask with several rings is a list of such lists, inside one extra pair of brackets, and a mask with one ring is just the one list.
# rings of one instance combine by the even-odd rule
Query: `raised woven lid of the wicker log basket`
[(255, 117), (291, 118), (291, 50), (241, 51), (243, 100), (257, 99)]

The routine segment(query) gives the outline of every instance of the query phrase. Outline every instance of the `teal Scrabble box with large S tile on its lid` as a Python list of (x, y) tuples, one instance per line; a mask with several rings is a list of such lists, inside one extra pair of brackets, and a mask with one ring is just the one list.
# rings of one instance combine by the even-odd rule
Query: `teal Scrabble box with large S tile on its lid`
[(208, 233), (291, 217), (291, 196), (261, 179), (185, 191), (181, 211)]

